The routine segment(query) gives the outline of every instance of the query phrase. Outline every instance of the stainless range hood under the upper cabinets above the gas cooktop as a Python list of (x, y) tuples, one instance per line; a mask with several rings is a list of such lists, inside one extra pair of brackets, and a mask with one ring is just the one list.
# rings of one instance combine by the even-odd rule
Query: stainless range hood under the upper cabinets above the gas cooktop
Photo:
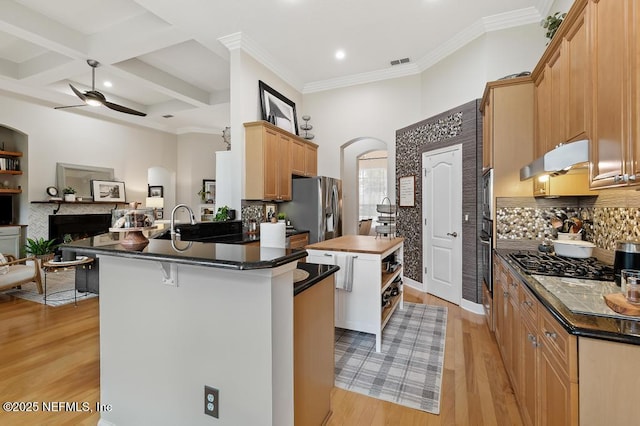
[(576, 164), (589, 161), (589, 141), (581, 140), (560, 145), (520, 169), (520, 180), (547, 174), (565, 173)]

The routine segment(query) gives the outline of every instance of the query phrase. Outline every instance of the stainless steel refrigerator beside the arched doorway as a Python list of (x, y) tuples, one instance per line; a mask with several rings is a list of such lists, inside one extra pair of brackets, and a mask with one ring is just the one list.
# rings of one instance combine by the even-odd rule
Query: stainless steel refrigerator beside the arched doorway
[(309, 243), (342, 235), (342, 182), (326, 176), (293, 179), (292, 200), (278, 208)]

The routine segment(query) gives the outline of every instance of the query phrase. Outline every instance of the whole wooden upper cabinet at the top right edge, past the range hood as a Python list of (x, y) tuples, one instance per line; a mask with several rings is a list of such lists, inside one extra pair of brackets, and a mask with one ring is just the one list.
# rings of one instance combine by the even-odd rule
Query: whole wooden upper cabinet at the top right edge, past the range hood
[(636, 0), (592, 0), (591, 185), (637, 185), (639, 31)]

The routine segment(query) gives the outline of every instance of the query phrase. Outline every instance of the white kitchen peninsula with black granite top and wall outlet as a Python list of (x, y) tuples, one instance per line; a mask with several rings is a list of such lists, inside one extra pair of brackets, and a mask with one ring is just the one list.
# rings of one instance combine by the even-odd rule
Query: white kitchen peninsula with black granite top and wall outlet
[(155, 238), (127, 250), (119, 238), (63, 248), (100, 259), (100, 401), (113, 407), (101, 424), (211, 424), (210, 386), (216, 424), (293, 425), (294, 295), (333, 296), (337, 268), (301, 265), (309, 277), (294, 284), (305, 251)]

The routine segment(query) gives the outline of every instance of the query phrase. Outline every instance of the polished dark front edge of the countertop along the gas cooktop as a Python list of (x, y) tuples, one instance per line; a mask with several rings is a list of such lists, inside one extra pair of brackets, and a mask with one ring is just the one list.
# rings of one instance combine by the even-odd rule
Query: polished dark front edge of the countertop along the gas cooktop
[(553, 293), (523, 271), (508, 254), (518, 250), (497, 249), (495, 253), (518, 275), (536, 298), (569, 333), (576, 336), (640, 345), (639, 321), (571, 312)]

